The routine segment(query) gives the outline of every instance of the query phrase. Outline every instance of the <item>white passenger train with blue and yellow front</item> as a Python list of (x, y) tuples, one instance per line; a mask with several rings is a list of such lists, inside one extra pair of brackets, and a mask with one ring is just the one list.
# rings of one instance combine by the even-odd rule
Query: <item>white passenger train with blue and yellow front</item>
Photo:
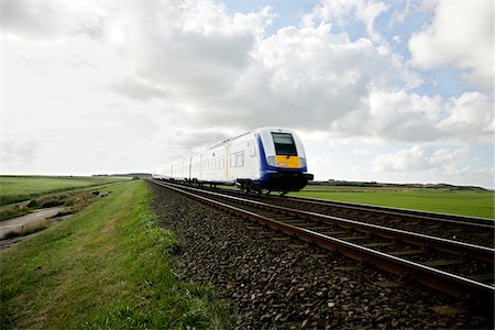
[(302, 189), (314, 176), (307, 173), (305, 150), (294, 131), (263, 128), (173, 162), (153, 177), (287, 193)]

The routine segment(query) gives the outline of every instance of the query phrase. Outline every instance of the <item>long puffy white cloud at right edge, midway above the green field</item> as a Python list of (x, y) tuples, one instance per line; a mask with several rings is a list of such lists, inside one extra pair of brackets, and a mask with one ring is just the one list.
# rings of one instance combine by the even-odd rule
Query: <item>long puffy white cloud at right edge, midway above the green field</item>
[(491, 144), (495, 132), (492, 101), (482, 92), (446, 99), (406, 90), (372, 90), (365, 101), (367, 107), (333, 122), (333, 134), (388, 143)]

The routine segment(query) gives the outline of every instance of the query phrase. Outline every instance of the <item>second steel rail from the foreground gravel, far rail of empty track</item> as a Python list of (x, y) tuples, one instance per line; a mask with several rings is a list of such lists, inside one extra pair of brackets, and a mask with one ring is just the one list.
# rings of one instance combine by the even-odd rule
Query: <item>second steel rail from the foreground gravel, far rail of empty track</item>
[[(174, 185), (174, 184), (172, 184)], [(494, 263), (495, 257), (495, 249), (486, 248), (486, 246), (480, 246), (474, 244), (469, 244), (464, 242), (459, 241), (452, 241), (447, 239), (441, 239), (437, 237), (420, 234), (420, 233), (414, 233), (408, 232), (400, 229), (394, 229), (388, 227), (383, 227), (378, 224), (372, 224), (366, 222), (361, 222), (356, 220), (350, 220), (350, 219), (343, 219), (339, 217), (328, 216), (328, 215), (321, 215), (317, 212), (311, 211), (304, 211), (304, 210), (296, 210), (290, 209), (287, 207), (271, 205), (257, 200), (251, 200), (245, 199), (241, 197), (230, 196), (230, 195), (223, 195), (216, 191), (209, 191), (204, 189), (198, 189), (194, 187), (187, 187), (187, 186), (179, 186), (184, 187), (185, 189), (198, 191), (201, 194), (208, 194), (211, 196), (217, 196), (220, 198), (227, 198), (231, 200), (235, 200), (242, 204), (246, 205), (253, 205), (257, 207), (262, 207), (270, 210), (276, 210), (286, 215), (293, 215), (302, 219), (308, 219), (315, 222), (321, 222), (321, 223), (332, 223), (337, 224), (339, 227), (345, 228), (345, 229), (354, 229), (356, 231), (367, 233), (367, 234), (375, 234), (377, 237), (391, 239), (391, 240), (402, 240), (405, 243), (418, 245), (418, 246), (427, 246), (431, 249), (436, 249), (441, 252), (452, 253), (457, 255), (464, 255), (469, 253), (469, 255), (473, 258), (476, 258), (479, 261), (483, 261), (486, 263)]]

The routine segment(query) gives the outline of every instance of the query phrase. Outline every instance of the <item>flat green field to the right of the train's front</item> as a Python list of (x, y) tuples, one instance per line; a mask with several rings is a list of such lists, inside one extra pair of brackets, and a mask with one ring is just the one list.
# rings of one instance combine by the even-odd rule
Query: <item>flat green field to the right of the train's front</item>
[(495, 193), (449, 189), (381, 189), (308, 186), (289, 196), (329, 199), (494, 219)]

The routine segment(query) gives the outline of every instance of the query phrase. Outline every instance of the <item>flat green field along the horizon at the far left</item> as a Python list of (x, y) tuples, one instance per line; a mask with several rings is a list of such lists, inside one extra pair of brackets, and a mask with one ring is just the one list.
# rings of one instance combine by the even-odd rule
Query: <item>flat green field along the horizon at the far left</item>
[(8, 205), (43, 194), (121, 182), (113, 177), (0, 176), (0, 205)]

